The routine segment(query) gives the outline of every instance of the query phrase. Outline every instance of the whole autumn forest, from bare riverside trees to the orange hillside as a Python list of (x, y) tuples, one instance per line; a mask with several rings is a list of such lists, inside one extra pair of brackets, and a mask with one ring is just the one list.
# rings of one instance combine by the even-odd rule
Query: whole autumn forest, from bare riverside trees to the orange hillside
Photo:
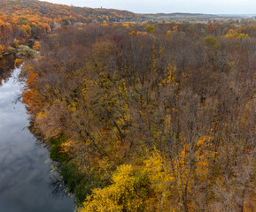
[(31, 39), (38, 52), (15, 60), (22, 102), (79, 211), (256, 210), (255, 21), (0, 8), (2, 52)]

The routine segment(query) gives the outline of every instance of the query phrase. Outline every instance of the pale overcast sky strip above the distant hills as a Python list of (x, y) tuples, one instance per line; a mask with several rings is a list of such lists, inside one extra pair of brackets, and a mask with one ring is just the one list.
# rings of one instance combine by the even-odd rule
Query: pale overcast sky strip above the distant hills
[(113, 8), (138, 13), (199, 12), (208, 14), (255, 14), (256, 0), (46, 0), (91, 8)]

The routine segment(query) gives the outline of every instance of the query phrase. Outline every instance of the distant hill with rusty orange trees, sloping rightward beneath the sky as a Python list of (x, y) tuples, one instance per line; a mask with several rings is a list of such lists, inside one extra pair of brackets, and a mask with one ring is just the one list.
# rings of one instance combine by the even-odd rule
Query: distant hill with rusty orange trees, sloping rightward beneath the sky
[(0, 15), (22, 16), (33, 15), (64, 23), (83, 22), (121, 22), (136, 19), (139, 15), (129, 11), (91, 9), (64, 4), (51, 4), (37, 0), (1, 0)]

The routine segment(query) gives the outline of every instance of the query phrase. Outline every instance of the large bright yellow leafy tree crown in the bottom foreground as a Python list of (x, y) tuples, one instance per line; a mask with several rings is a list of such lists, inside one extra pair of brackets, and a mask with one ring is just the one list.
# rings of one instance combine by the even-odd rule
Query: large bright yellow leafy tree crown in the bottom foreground
[(112, 176), (112, 185), (93, 190), (81, 212), (174, 211), (174, 178), (164, 157), (156, 150), (142, 167), (120, 165)]

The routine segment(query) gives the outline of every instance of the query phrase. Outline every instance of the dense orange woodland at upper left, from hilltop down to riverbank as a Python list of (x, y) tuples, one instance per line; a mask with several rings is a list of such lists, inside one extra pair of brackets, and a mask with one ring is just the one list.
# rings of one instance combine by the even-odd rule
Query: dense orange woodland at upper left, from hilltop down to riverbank
[(0, 1), (0, 57), (31, 39), (39, 39), (53, 28), (77, 22), (120, 22), (136, 19), (128, 11), (90, 9), (38, 0)]

